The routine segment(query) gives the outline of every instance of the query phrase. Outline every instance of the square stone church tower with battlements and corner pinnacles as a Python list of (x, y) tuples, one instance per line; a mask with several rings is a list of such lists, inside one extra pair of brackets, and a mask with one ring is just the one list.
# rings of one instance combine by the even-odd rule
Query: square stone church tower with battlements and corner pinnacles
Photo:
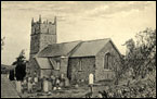
[(54, 23), (44, 21), (41, 15), (39, 21), (31, 21), (30, 59), (48, 45), (56, 44), (56, 17)]

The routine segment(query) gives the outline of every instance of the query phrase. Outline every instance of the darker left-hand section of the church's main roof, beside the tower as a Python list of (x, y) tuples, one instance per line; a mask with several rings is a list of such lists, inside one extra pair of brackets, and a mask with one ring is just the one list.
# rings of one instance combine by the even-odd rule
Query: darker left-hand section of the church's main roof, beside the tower
[(68, 55), (81, 41), (53, 44), (44, 48), (38, 53), (38, 57), (61, 57)]

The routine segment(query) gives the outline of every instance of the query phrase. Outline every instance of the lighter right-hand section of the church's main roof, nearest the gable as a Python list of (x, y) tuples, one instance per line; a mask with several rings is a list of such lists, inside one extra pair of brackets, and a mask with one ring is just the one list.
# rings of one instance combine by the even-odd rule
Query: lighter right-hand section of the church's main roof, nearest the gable
[(80, 47), (70, 55), (74, 57), (94, 57), (100, 52), (105, 45), (109, 41), (109, 38), (106, 39), (96, 39), (83, 41)]

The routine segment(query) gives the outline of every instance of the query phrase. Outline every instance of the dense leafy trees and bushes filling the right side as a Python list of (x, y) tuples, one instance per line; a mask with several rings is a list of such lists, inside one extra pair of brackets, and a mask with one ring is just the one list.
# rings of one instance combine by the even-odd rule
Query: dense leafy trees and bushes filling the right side
[(117, 72), (118, 84), (107, 88), (108, 98), (156, 98), (156, 29), (146, 28), (126, 41), (127, 55)]

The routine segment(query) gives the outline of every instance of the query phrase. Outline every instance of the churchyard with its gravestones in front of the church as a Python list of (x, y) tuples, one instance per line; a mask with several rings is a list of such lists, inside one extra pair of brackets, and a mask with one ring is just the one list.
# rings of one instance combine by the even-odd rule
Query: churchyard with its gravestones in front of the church
[[(91, 81), (91, 79), (90, 79)], [(90, 83), (93, 85), (92, 90), (89, 87)], [(48, 85), (47, 85), (48, 84)], [(26, 81), (22, 82), (22, 87), (19, 87), (19, 83), (16, 82), (16, 89), (19, 92), (22, 98), (86, 98), (86, 95), (90, 94), (91, 91), (92, 97), (97, 97), (100, 90), (104, 90), (106, 83), (93, 83), (89, 82), (81, 83), (81, 84), (63, 84), (63, 82), (60, 82), (57, 85), (51, 85), (52, 82), (41, 82), (38, 81), (38, 83), (34, 83), (31, 88), (29, 83)], [(108, 83), (109, 84), (109, 83)], [(107, 84), (107, 85), (108, 85)]]

